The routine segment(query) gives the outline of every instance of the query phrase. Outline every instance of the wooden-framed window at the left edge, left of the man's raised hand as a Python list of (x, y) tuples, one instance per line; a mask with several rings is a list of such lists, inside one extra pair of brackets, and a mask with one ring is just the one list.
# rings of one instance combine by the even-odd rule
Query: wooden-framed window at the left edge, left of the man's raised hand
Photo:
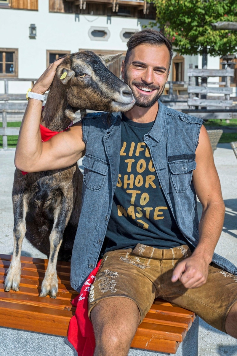
[(18, 77), (18, 49), (0, 48), (0, 77)]

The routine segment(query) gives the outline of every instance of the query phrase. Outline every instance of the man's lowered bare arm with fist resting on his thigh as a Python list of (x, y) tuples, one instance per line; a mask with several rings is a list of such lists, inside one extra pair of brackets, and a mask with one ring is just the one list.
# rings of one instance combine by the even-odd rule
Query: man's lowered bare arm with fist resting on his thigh
[(172, 282), (179, 279), (186, 288), (197, 288), (206, 283), (208, 266), (219, 240), (225, 216), (220, 180), (204, 126), (201, 127), (196, 149), (196, 164), (193, 183), (196, 195), (203, 206), (199, 223), (199, 242), (192, 256), (178, 263), (174, 268), (172, 276)]

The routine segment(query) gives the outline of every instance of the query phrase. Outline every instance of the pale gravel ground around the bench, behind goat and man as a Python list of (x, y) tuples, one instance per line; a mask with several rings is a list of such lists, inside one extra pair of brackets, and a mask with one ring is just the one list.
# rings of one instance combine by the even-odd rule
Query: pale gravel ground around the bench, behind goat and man
[[(0, 253), (11, 254), (13, 249), (13, 214), (11, 190), (14, 177), (15, 150), (0, 150)], [(216, 252), (237, 265), (237, 159), (230, 144), (217, 146), (214, 159), (226, 204), (223, 231)], [(199, 211), (200, 211), (199, 203)], [(45, 258), (25, 239), (22, 255)], [(199, 323), (199, 356), (237, 356), (237, 340), (206, 324)], [(187, 355), (189, 356), (189, 355)]]

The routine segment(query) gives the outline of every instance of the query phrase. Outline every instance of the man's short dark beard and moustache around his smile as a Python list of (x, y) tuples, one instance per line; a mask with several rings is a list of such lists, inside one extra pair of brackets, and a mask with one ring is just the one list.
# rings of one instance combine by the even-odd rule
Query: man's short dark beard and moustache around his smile
[[(128, 84), (129, 85), (129, 79), (126, 75), (126, 72), (125, 72), (125, 75), (124, 75), (124, 83), (125, 84)], [(137, 92), (135, 92), (134, 90), (134, 87), (130, 87), (132, 93), (133, 93), (133, 96), (135, 98), (135, 105), (136, 106), (140, 106), (141, 108), (151, 108), (151, 106), (153, 106), (157, 100), (160, 98), (161, 94), (163, 93), (163, 90), (165, 89), (165, 84), (163, 85), (162, 88), (160, 88), (159, 86), (154, 86), (154, 85), (145, 85), (144, 83), (141, 83), (141, 82), (136, 82), (136, 80), (133, 80), (131, 82), (131, 84), (133, 85), (136, 85), (137, 87), (146, 87), (146, 88), (149, 88), (149, 89), (157, 89), (157, 94), (152, 97), (152, 98), (149, 98), (148, 95), (142, 95), (142, 94), (138, 94)]]

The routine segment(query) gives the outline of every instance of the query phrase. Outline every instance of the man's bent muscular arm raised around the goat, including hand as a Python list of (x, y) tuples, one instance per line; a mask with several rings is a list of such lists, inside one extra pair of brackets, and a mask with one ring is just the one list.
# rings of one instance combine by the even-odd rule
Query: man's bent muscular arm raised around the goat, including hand
[[(56, 69), (61, 62), (62, 59), (59, 59), (50, 64), (31, 91), (44, 94), (52, 84)], [(81, 158), (85, 150), (81, 123), (53, 136), (49, 141), (42, 142), (39, 130), (41, 110), (42, 101), (30, 98), (22, 119), (15, 154), (15, 166), (25, 172), (71, 166)]]

